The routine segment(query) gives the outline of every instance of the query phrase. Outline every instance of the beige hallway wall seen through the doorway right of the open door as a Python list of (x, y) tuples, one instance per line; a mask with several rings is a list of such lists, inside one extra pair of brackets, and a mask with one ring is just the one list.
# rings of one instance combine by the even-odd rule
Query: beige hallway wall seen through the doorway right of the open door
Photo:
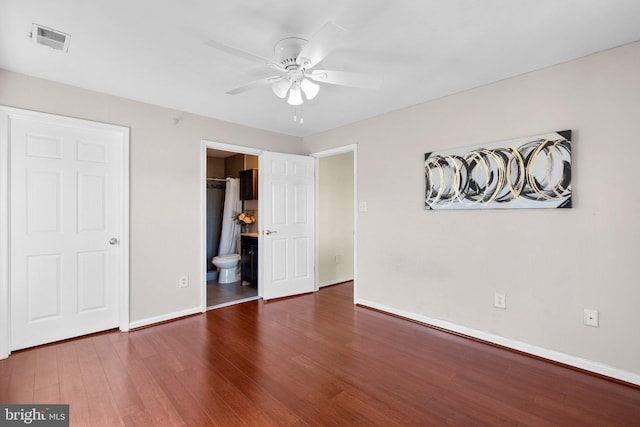
[(353, 152), (322, 157), (319, 168), (319, 285), (324, 286), (353, 279)]

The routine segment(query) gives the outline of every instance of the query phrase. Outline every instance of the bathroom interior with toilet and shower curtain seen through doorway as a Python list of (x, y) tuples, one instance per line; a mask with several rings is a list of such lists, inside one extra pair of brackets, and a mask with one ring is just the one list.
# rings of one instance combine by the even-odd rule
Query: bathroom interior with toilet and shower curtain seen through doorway
[[(247, 267), (241, 257), (243, 243), (252, 242), (247, 237), (255, 235), (257, 239), (258, 200), (257, 194), (241, 192), (239, 182), (243, 171), (254, 170), (257, 176), (257, 169), (258, 155), (206, 148), (207, 310), (258, 298), (257, 280), (245, 274), (243, 267)], [(257, 256), (257, 245), (255, 251)]]

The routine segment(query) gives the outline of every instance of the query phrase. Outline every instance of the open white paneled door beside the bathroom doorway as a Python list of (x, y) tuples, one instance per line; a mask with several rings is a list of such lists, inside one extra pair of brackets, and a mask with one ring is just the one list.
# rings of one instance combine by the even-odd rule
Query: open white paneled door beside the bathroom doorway
[(282, 153), (262, 155), (262, 297), (315, 290), (315, 159)]

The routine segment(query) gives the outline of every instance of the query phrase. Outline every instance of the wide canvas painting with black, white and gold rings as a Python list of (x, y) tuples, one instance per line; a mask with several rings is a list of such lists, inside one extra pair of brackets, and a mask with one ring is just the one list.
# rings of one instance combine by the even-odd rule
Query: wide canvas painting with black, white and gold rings
[(571, 131), (424, 156), (425, 209), (570, 208)]

